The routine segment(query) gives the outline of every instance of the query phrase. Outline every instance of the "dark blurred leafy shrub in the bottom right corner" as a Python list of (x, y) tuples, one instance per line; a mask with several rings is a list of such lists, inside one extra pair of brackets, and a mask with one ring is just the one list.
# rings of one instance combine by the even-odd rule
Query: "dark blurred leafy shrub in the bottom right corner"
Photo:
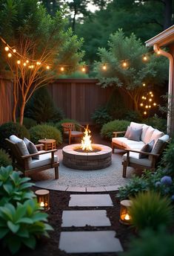
[(120, 256), (169, 256), (174, 255), (174, 235), (168, 234), (164, 228), (158, 232), (151, 229), (142, 231), (140, 237), (133, 238), (127, 252)]

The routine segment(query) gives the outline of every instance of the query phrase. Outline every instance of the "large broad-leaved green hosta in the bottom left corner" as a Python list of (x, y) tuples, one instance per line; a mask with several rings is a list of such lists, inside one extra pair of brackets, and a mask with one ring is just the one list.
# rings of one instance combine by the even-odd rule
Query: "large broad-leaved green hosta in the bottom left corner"
[(49, 237), (47, 231), (53, 230), (36, 199), (28, 199), (24, 204), (18, 202), (16, 207), (11, 203), (1, 206), (0, 227), (2, 246), (12, 254), (18, 252), (22, 245), (35, 249), (36, 240), (42, 235)]

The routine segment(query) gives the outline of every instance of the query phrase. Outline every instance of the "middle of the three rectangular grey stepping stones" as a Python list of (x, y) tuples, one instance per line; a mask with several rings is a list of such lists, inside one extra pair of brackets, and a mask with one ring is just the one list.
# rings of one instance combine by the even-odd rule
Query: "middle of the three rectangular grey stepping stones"
[(105, 210), (63, 211), (61, 227), (71, 227), (72, 225), (84, 227), (85, 225), (110, 226), (111, 224)]

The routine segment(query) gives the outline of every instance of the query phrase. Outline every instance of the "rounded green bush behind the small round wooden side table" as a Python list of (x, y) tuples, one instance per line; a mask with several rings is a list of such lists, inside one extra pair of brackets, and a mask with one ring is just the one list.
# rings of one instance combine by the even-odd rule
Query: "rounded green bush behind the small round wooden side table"
[(37, 144), (39, 139), (53, 138), (56, 140), (56, 145), (62, 143), (61, 132), (56, 128), (47, 124), (39, 124), (36, 127), (32, 127), (30, 130), (30, 139), (34, 144)]

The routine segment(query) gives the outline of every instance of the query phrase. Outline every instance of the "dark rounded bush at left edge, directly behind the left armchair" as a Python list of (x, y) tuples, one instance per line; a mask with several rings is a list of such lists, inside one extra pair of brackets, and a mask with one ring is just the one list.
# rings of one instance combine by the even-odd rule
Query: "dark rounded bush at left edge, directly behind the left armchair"
[(19, 138), (30, 138), (30, 134), (26, 127), (20, 125), (19, 123), (5, 123), (0, 126), (0, 147), (7, 150), (7, 144), (5, 138), (10, 138), (10, 135), (16, 135)]

